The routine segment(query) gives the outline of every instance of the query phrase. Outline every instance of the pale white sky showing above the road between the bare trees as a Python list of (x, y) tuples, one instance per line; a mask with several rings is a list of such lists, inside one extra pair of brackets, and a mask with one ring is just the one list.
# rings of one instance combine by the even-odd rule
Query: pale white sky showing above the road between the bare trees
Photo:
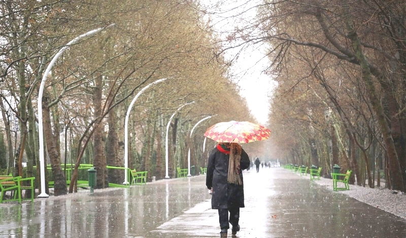
[[(221, 1), (201, 0), (201, 2), (204, 6), (212, 9), (210, 6), (216, 5), (217, 2)], [(211, 14), (210, 17), (213, 19), (213, 22), (216, 23), (215, 28), (222, 32), (233, 31), (234, 25), (238, 24), (235, 23), (235, 19), (229, 18), (230, 15), (238, 15), (238, 12), (249, 9), (250, 6), (253, 6), (257, 1), (247, 1), (249, 4), (231, 11), (230, 9), (234, 9), (244, 2), (239, 0), (227, 0), (225, 2), (227, 5), (221, 9), (209, 10), (209, 12), (216, 12), (216, 14)], [(255, 10), (249, 10), (245, 14), (248, 16), (244, 16), (244, 20), (250, 22), (250, 18), (255, 15)], [(220, 35), (222, 39), (226, 36), (227, 33)], [(226, 57), (229, 56), (229, 58), (232, 58), (239, 50), (240, 49), (226, 51)], [(234, 62), (234, 66), (231, 69), (231, 73), (235, 75), (233, 80), (236, 81), (242, 89), (241, 95), (246, 98), (252, 114), (257, 118), (258, 123), (262, 125), (267, 122), (269, 113), (268, 94), (275, 87), (275, 82), (272, 81), (269, 76), (262, 73), (263, 69), (269, 65), (267, 58), (264, 58), (264, 52), (265, 50), (262, 48), (245, 49), (240, 52), (238, 60)]]

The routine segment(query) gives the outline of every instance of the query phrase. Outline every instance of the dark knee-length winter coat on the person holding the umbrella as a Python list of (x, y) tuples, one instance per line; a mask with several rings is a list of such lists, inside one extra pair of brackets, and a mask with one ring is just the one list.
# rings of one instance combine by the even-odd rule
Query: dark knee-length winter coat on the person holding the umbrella
[(206, 186), (213, 188), (212, 209), (244, 208), (243, 170), (250, 166), (250, 159), (248, 154), (242, 150), (240, 178), (243, 181), (243, 185), (237, 185), (227, 182), (229, 157), (229, 154), (222, 153), (217, 148), (214, 148), (209, 156)]

